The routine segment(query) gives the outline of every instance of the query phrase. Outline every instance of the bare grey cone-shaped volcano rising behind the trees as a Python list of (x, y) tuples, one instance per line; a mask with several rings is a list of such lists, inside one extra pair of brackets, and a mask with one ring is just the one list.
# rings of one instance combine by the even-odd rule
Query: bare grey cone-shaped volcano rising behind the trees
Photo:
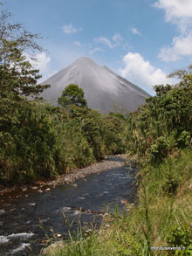
[(41, 96), (53, 105), (58, 104), (65, 86), (77, 84), (84, 90), (88, 107), (102, 113), (134, 111), (150, 96), (139, 86), (87, 57), (77, 59), (42, 84), (51, 85)]

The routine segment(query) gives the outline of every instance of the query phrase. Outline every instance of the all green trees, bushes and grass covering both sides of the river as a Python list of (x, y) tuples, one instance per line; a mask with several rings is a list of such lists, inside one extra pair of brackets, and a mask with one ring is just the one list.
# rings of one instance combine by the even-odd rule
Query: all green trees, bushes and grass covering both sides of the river
[[(191, 255), (192, 66), (171, 74), (181, 80), (177, 85), (155, 86), (156, 95), (127, 117), (88, 109), (77, 85), (65, 88), (61, 107), (52, 107), (38, 99), (48, 85), (38, 85), (38, 70), (24, 56), (41, 50), (37, 35), (9, 18), (2, 12), (0, 183), (54, 177), (126, 151), (141, 165), (137, 205), (106, 218), (108, 228), (71, 236), (51, 255)], [(154, 252), (152, 246), (187, 249)]]

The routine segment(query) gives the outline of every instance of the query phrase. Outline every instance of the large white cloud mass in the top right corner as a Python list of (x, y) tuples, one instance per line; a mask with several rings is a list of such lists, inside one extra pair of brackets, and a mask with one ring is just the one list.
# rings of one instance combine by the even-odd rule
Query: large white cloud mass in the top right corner
[(161, 48), (158, 57), (164, 61), (176, 61), (192, 56), (192, 0), (158, 0), (154, 7), (165, 10), (166, 22), (176, 24), (180, 36), (172, 44)]

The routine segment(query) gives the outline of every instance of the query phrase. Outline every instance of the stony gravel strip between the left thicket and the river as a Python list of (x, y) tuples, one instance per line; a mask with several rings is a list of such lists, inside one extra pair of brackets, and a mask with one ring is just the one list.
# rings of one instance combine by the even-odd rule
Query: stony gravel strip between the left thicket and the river
[[(115, 157), (118, 157), (122, 159), (120, 160), (115, 160)], [(58, 176), (54, 178), (53, 180), (38, 180), (34, 183), (20, 183), (17, 185), (13, 186), (4, 186), (0, 185), (0, 196), (3, 197), (4, 193), (11, 192), (14, 190), (49, 190), (49, 187), (55, 187), (59, 184), (65, 184), (65, 183), (74, 183), (76, 180), (80, 178), (85, 178), (86, 176), (90, 176), (92, 174), (100, 173), (105, 170), (110, 170), (113, 168), (118, 168), (120, 166), (124, 166), (126, 164), (127, 160), (127, 155), (122, 154), (122, 155), (114, 155), (114, 156), (107, 156), (106, 159), (98, 162), (98, 163), (93, 163), (89, 166), (86, 166), (85, 168), (81, 169), (76, 169), (76, 170), (71, 170), (70, 173), (64, 174), (61, 176)]]

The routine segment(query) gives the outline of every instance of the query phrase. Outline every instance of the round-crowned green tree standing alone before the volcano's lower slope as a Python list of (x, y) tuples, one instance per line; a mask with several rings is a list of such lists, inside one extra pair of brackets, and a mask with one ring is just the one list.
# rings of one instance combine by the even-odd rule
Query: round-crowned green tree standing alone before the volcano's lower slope
[(58, 104), (62, 107), (70, 107), (72, 105), (76, 105), (78, 107), (87, 108), (87, 102), (84, 98), (83, 89), (74, 84), (65, 87), (61, 97), (58, 98)]

